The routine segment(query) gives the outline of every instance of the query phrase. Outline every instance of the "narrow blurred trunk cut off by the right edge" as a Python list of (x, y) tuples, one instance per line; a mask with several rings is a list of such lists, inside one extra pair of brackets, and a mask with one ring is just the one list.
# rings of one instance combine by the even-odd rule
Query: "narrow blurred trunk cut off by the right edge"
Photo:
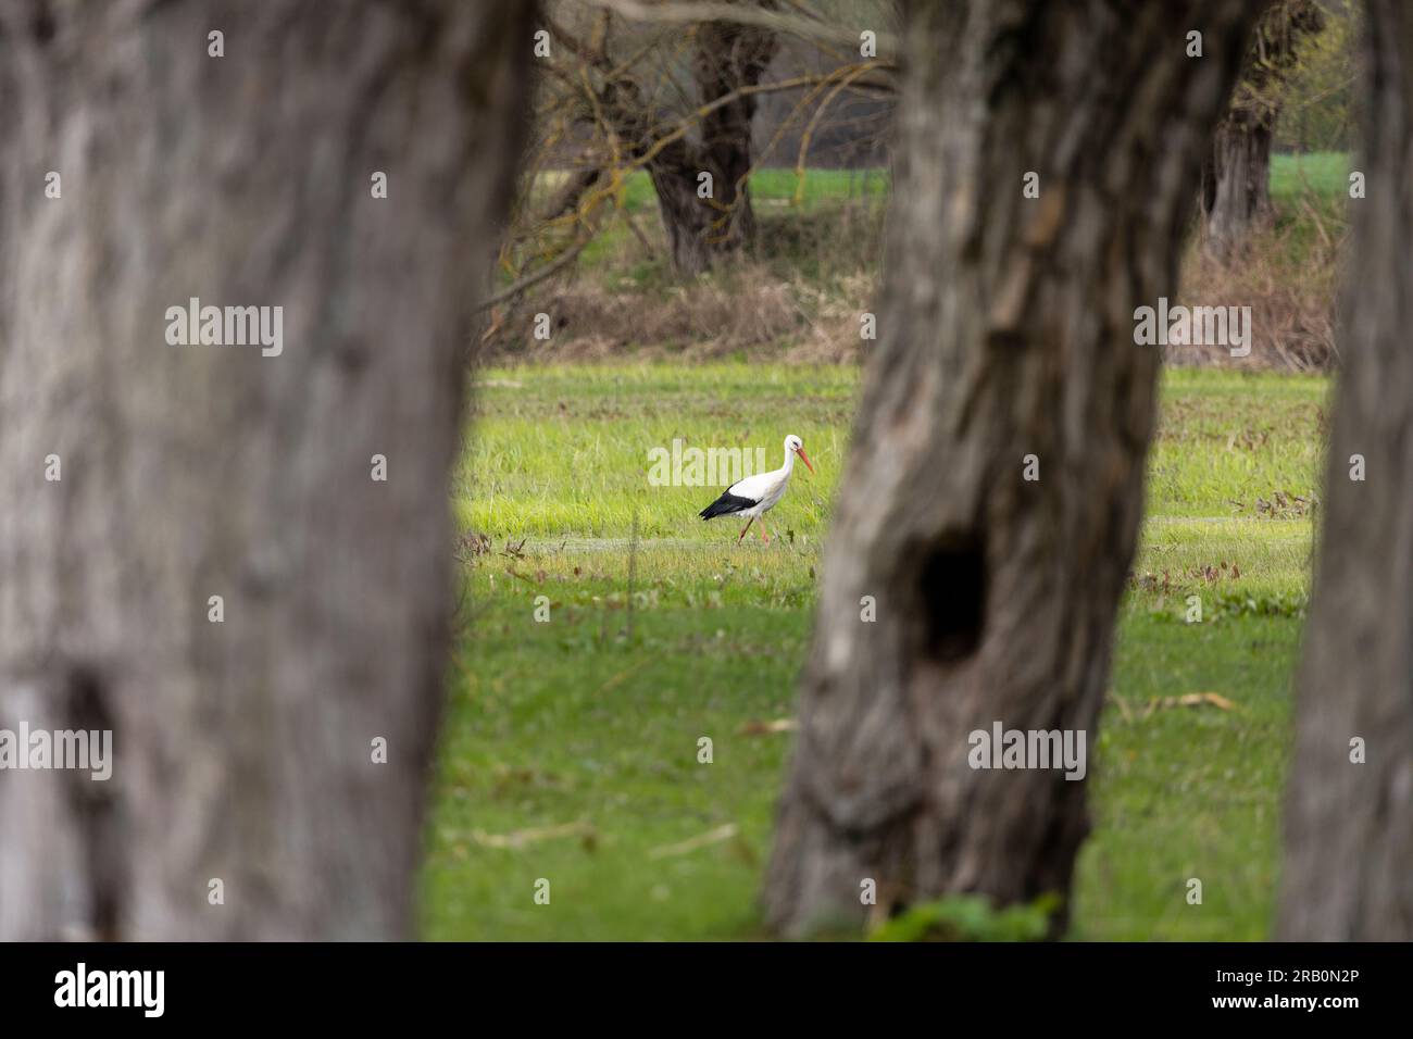
[[(1354, 252), (1299, 676), (1279, 933), (1413, 939), (1413, 8), (1366, 6)], [(1351, 479), (1351, 458), (1364, 479)], [(1364, 741), (1364, 762), (1352, 739)]]

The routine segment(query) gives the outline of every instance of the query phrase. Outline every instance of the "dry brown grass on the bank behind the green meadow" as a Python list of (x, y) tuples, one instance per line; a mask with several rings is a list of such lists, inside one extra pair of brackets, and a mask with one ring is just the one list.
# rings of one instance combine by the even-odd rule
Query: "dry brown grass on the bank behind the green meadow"
[[(760, 206), (756, 254), (695, 281), (667, 270), (653, 215), (616, 235), (592, 262), (536, 286), (493, 317), (485, 359), (495, 363), (726, 356), (853, 363), (868, 346), (859, 318), (876, 300), (882, 212), (844, 206), (812, 213)], [(1296, 236), (1301, 236), (1297, 239)], [(1259, 232), (1226, 262), (1200, 242), (1187, 250), (1174, 304), (1252, 308), (1252, 352), (1170, 346), (1173, 365), (1323, 370), (1337, 360), (1335, 300), (1342, 223), (1317, 213)], [(552, 334), (537, 341), (534, 315)]]

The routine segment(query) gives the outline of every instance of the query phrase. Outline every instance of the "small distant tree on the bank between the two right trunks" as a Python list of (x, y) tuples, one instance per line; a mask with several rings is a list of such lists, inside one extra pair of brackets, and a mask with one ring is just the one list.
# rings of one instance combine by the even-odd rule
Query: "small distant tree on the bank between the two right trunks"
[(1325, 16), (1314, 0), (1275, 0), (1256, 23), (1242, 76), (1202, 164), (1204, 245), (1229, 256), (1272, 218), (1270, 146), (1303, 40)]

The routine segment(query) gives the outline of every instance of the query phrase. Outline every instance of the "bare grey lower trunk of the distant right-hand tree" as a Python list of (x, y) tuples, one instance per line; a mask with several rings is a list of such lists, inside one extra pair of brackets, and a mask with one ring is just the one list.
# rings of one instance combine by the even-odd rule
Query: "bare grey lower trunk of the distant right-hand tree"
[(1270, 206), (1270, 143), (1276, 113), (1234, 113), (1217, 127), (1202, 167), (1204, 246), (1226, 257), (1253, 230), (1267, 226)]

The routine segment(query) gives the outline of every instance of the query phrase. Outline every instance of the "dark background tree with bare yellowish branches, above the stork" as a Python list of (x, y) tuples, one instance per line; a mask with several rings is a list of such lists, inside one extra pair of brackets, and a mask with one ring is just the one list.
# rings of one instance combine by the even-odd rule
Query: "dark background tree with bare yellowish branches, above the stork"
[[(548, 198), (520, 213), (503, 266), (541, 277), (572, 259), (609, 211), (622, 213), (646, 243), (632, 218), (613, 209), (627, 177), (642, 170), (657, 198), (674, 273), (701, 274), (755, 240), (747, 178), (762, 158), (753, 122), (764, 95), (803, 95), (786, 120), (791, 123), (808, 122), (801, 115), (824, 110), (839, 90), (890, 92), (890, 62), (862, 61), (858, 49), (849, 58), (838, 41), (858, 48), (858, 31), (805, 4), (735, 0), (716, 7), (723, 17), (708, 21), (681, 17), (674, 4), (571, 1), (547, 8), (554, 49), (527, 178), (538, 187), (567, 154), (572, 161)], [(767, 81), (784, 35), (825, 41), (829, 71)], [(536, 264), (538, 270), (526, 270)]]

